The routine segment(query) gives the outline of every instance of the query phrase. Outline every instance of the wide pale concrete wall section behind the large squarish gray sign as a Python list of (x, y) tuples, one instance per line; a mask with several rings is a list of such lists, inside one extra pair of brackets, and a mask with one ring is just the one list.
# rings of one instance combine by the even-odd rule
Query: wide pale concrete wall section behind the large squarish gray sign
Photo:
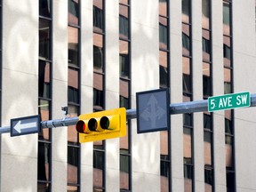
[[(158, 1), (132, 1), (131, 21), (132, 108), (136, 108), (136, 92), (159, 87)], [(159, 138), (159, 132), (137, 134), (136, 121), (132, 120), (134, 192), (160, 190)]]

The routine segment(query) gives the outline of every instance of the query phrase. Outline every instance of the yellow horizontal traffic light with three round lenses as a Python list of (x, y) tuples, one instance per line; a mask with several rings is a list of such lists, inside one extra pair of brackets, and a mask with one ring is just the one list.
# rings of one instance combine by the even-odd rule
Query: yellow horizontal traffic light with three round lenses
[(76, 123), (79, 142), (106, 140), (126, 135), (126, 109), (115, 108), (84, 114)]

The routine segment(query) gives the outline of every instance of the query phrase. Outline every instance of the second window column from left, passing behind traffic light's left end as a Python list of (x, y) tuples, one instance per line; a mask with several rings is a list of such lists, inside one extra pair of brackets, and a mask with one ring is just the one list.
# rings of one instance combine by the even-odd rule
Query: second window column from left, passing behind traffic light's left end
[[(80, 114), (80, 0), (68, 0), (68, 115)], [(68, 126), (67, 188), (80, 191), (80, 143), (75, 125)]]

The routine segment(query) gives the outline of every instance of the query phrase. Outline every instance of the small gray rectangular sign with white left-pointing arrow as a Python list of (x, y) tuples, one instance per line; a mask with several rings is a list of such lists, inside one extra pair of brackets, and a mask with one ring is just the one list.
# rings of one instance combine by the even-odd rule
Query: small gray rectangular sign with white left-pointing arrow
[(11, 137), (39, 132), (40, 117), (25, 116), (11, 119)]

